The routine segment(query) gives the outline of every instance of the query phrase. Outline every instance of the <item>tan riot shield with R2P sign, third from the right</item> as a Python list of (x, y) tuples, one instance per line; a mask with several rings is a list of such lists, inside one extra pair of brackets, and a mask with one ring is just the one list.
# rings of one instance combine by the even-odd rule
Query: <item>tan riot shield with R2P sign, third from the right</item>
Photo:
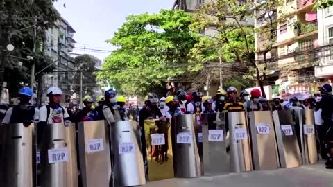
[(279, 168), (278, 145), (271, 111), (250, 112), (250, 134), (255, 170)]

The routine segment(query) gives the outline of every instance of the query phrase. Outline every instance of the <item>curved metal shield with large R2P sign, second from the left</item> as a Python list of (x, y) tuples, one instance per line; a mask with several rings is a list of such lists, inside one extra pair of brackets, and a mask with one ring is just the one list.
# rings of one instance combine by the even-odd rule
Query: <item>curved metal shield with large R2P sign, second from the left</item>
[(75, 127), (63, 123), (46, 125), (41, 145), (42, 187), (78, 186)]

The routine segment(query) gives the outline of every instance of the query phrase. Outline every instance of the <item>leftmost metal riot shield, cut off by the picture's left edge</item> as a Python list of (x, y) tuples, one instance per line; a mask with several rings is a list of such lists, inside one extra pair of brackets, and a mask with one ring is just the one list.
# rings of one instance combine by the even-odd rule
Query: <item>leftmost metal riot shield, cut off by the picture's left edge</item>
[[(3, 178), (1, 186), (35, 186), (35, 125), (24, 127), (23, 123), (5, 125), (3, 157), (1, 159)], [(0, 172), (1, 173), (1, 172)]]

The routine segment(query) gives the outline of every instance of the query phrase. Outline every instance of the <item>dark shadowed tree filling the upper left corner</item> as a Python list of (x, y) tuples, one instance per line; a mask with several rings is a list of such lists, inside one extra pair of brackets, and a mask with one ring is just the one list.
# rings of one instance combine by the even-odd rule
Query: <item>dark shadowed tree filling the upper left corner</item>
[[(53, 8), (51, 0), (0, 0), (0, 36), (3, 38), (0, 48), (7, 44), (15, 46), (10, 54), (6, 50), (0, 50), (3, 57), (1, 65), (5, 67), (3, 77), (8, 82), (11, 97), (16, 96), (19, 87), (28, 83), (31, 72), (32, 61), (17, 57), (34, 57), (36, 72), (50, 63), (44, 53), (47, 47), (44, 46), (45, 30), (58, 19), (58, 12)], [(33, 53), (33, 25), (37, 27), (36, 53)], [(17, 66), (18, 61), (23, 62), (22, 68)], [(3, 79), (0, 80), (2, 85)]]

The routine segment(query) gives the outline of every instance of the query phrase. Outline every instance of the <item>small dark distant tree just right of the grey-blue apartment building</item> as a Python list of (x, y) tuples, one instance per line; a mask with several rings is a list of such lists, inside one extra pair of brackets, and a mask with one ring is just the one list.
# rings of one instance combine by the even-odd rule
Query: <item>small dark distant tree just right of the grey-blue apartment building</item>
[(97, 86), (96, 75), (94, 74), (94, 71), (96, 71), (96, 61), (94, 60), (94, 57), (91, 55), (80, 55), (75, 57), (74, 62), (76, 64), (76, 69), (80, 70), (74, 73), (74, 93), (80, 94), (80, 79), (82, 73), (83, 96), (86, 94), (94, 96), (94, 88)]

